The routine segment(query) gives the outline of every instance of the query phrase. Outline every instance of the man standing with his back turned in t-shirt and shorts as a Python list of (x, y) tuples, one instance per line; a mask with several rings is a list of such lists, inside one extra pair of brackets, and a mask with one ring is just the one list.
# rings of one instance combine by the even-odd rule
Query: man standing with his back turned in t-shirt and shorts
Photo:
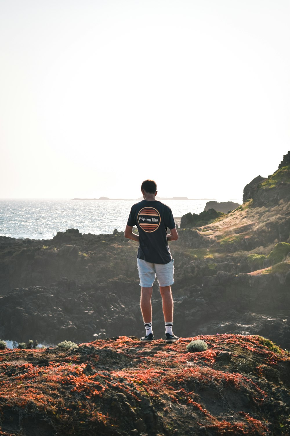
[[(173, 259), (168, 241), (176, 241), (178, 234), (171, 209), (155, 200), (157, 185), (153, 180), (145, 180), (141, 185), (144, 200), (134, 204), (128, 218), (125, 237), (139, 242), (137, 266), (141, 286), (141, 312), (145, 325), (145, 336), (141, 341), (153, 341), (152, 330), (152, 285), (155, 277), (160, 286), (165, 321), (165, 342), (178, 341), (173, 334), (173, 300), (170, 286), (173, 281)], [(136, 225), (139, 235), (132, 232)], [(167, 227), (170, 233), (167, 235)]]

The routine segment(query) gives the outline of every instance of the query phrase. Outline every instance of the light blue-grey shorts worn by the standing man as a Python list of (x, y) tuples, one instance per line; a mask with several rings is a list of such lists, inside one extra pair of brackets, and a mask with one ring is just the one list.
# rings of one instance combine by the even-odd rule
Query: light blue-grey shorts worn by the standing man
[(140, 278), (140, 286), (150, 288), (157, 277), (159, 286), (173, 285), (173, 259), (165, 263), (150, 263), (143, 259), (137, 259), (137, 267)]

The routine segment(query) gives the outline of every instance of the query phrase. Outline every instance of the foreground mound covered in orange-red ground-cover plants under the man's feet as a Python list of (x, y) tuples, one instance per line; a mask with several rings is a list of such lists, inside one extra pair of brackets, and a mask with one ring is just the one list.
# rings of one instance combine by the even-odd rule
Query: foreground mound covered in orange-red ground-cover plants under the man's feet
[(6, 349), (0, 434), (287, 436), (289, 368), (289, 353), (258, 335)]

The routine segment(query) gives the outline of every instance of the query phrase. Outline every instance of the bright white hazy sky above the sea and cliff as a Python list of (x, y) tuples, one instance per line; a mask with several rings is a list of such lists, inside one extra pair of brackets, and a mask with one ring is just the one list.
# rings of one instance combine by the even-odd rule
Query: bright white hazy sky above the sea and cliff
[(241, 201), (290, 150), (288, 0), (1, 0), (0, 198)]

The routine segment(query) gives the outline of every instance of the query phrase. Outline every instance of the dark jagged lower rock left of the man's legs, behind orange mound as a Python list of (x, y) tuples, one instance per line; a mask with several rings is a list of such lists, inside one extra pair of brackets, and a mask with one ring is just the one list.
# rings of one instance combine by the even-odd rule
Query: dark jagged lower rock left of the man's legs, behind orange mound
[[(15, 289), (2, 296), (0, 337), (56, 344), (93, 337), (130, 335), (140, 328), (138, 283), (124, 277), (107, 285), (63, 279), (50, 287)], [(142, 325), (142, 324), (141, 324)]]

